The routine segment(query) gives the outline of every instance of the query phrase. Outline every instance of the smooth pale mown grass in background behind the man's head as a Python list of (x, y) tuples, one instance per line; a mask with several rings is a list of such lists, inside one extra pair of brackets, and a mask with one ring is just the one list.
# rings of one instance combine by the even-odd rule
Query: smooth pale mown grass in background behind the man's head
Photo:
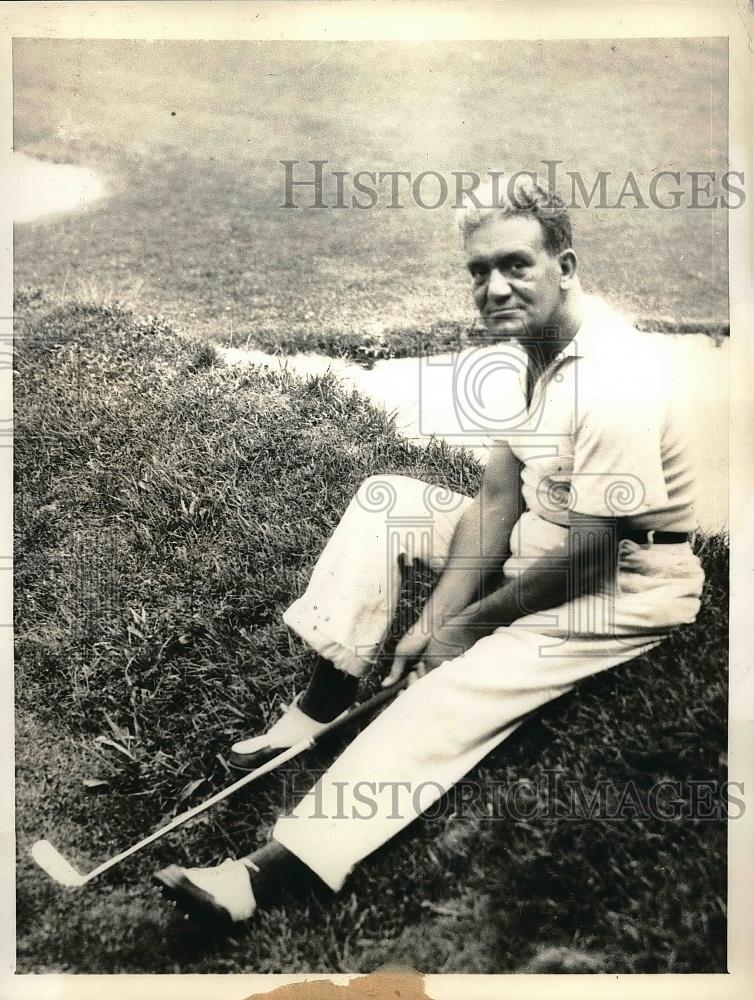
[[(16, 148), (90, 164), (114, 191), (18, 227), (17, 283), (273, 349), (440, 320), (455, 335), (474, 314), (447, 210), (283, 210), (278, 161), (416, 175), (550, 158), (563, 182), (633, 170), (644, 188), (661, 167), (719, 173), (725, 59), (715, 39), (17, 40)], [(640, 317), (725, 323), (725, 213), (626, 204), (574, 213), (590, 290)]]

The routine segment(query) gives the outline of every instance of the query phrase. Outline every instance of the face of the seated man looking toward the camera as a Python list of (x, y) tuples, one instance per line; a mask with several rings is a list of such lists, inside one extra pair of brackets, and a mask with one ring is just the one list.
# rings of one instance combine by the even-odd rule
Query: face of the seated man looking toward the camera
[(474, 301), (495, 337), (542, 338), (558, 326), (563, 301), (558, 257), (544, 230), (525, 215), (494, 215), (466, 240)]

